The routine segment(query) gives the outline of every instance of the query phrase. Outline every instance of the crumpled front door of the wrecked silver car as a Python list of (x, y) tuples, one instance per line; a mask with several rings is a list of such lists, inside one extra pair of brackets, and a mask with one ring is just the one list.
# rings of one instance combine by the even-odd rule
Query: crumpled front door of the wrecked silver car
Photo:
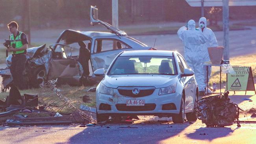
[(76, 59), (67, 58), (63, 46), (57, 46), (56, 52), (58, 52), (58, 58), (53, 55), (50, 60), (48, 79), (58, 78), (58, 83), (76, 85), (80, 79), (78, 62)]

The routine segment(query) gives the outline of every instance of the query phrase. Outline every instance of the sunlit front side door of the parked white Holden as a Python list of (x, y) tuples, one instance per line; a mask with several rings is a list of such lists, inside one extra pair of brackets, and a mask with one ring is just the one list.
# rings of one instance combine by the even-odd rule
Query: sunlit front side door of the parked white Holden
[[(182, 65), (184, 66), (184, 68), (189, 69), (189, 66), (187, 65), (185, 59), (181, 56), (178, 55), (178, 57), (180, 58)], [(186, 76), (184, 77), (186, 78), (187, 81), (187, 85), (186, 85), (186, 95), (187, 95), (187, 108), (191, 109), (194, 107), (194, 103), (195, 103), (195, 76)]]

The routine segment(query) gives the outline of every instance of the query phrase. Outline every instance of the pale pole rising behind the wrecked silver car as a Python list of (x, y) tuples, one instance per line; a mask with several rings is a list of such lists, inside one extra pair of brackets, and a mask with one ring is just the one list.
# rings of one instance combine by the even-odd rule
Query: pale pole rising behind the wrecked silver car
[[(112, 26), (118, 29), (118, 0), (112, 0)], [(117, 42), (113, 42), (113, 49), (117, 49)]]

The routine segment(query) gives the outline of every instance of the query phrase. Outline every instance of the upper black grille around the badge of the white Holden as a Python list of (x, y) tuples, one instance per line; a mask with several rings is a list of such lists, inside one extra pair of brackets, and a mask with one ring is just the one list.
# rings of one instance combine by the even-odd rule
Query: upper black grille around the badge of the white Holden
[(132, 89), (119, 89), (118, 90), (119, 94), (121, 94), (123, 96), (129, 96), (129, 97), (132, 97), (132, 98), (139, 98), (139, 97), (143, 97), (143, 96), (149, 96), (154, 91), (155, 91), (155, 89), (143, 89), (143, 90), (139, 90), (139, 94), (133, 94)]

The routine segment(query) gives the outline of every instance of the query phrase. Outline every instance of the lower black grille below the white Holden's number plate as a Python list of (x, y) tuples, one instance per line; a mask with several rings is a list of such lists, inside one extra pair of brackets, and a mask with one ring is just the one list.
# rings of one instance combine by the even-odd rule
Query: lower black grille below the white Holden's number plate
[(153, 111), (156, 108), (154, 103), (146, 103), (144, 106), (126, 106), (126, 104), (116, 104), (118, 111)]

